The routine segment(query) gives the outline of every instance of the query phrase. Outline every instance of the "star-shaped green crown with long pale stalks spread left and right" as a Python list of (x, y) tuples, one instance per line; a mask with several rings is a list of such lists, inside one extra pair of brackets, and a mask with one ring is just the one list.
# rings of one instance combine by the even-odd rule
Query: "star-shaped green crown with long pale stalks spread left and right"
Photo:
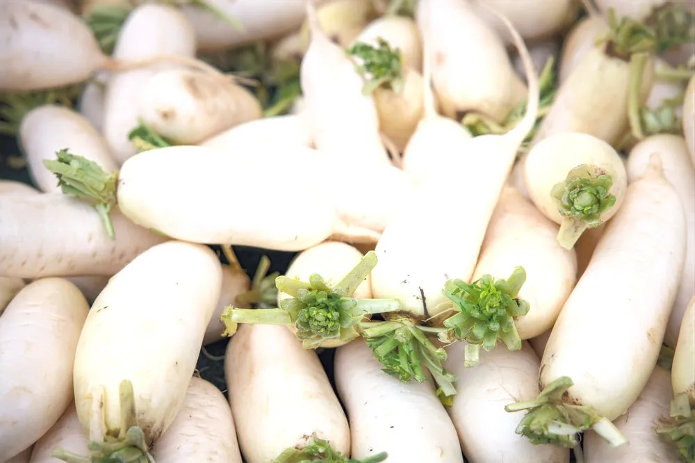
[(394, 299), (353, 298), (357, 286), (377, 264), (375, 252), (368, 252), (360, 263), (335, 286), (318, 274), (302, 282), (286, 276), (275, 279), (278, 291), (291, 295), (275, 309), (235, 309), (228, 306), (220, 319), (228, 334), (236, 332), (237, 323), (291, 325), (297, 330), (304, 348), (318, 348), (326, 341), (352, 341), (359, 336), (358, 323), (370, 314), (398, 311)]

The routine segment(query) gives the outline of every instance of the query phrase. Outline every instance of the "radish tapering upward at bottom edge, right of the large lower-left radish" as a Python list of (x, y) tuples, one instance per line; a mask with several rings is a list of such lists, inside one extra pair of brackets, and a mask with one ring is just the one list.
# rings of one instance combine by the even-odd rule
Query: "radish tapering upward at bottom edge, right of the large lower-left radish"
[(234, 420), (220, 389), (192, 377), (179, 414), (152, 454), (158, 463), (242, 463)]

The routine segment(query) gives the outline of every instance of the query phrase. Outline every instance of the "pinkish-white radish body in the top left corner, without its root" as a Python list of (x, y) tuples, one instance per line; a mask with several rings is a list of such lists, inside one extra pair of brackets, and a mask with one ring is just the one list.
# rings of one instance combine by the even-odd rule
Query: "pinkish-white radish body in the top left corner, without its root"
[(5, 92), (82, 82), (108, 61), (83, 19), (53, 3), (3, 1), (0, 31), (0, 90)]

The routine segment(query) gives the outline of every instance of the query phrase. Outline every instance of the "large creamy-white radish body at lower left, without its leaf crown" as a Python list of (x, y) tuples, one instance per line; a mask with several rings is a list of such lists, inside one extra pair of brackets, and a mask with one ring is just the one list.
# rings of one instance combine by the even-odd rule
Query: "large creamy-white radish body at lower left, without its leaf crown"
[[(120, 428), (123, 380), (133, 384), (147, 444), (165, 432), (186, 396), (221, 285), (215, 253), (180, 241), (150, 248), (111, 278), (92, 304), (75, 353), (75, 405), (92, 439)], [(153, 343), (153, 327), (167, 336)], [(90, 427), (92, 400), (100, 397), (104, 430)]]

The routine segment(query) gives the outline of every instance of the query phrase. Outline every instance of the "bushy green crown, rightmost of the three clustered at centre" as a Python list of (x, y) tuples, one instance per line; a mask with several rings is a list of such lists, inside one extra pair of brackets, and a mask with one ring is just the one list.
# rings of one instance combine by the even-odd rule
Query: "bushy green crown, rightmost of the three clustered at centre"
[(450, 279), (443, 293), (453, 303), (457, 314), (444, 320), (448, 332), (440, 335), (440, 340), (467, 341), (466, 366), (477, 364), (481, 346), (493, 350), (498, 341), (502, 341), (509, 350), (521, 349), (514, 318), (528, 313), (528, 302), (518, 298), (525, 281), (523, 267), (514, 268), (508, 279), (496, 280), (491, 275), (483, 275), (473, 284)]

